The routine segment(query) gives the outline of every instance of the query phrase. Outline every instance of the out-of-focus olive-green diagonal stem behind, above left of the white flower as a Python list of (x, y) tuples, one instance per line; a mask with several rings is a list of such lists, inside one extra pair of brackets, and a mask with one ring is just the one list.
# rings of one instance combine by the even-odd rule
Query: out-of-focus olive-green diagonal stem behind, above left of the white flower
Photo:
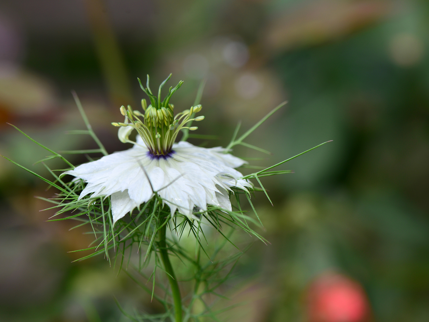
[(103, 0), (85, 0), (94, 45), (106, 79), (109, 96), (115, 105), (133, 103), (130, 81), (115, 33), (109, 23)]

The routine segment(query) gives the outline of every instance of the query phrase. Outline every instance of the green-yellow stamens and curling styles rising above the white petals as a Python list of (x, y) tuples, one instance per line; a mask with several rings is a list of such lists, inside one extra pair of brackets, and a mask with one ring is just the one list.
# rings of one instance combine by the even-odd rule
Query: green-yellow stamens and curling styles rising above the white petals
[(183, 81), (180, 81), (175, 88), (170, 87), (167, 96), (161, 101), (161, 90), (170, 77), (171, 74), (161, 83), (158, 89), (158, 97), (154, 96), (149, 88), (149, 75), (146, 88), (143, 87), (139, 79), (140, 87), (148, 95), (151, 104), (148, 106), (146, 100), (142, 99), (144, 114), (133, 110), (130, 105), (127, 109), (121, 106), (121, 114), (125, 116), (124, 123), (112, 123), (112, 125), (121, 127), (118, 131), (118, 137), (124, 143), (134, 143), (128, 140), (128, 136), (135, 129), (148, 147), (151, 158), (159, 159), (162, 157), (166, 159), (171, 157), (171, 154), (174, 153), (172, 151), (173, 143), (179, 131), (184, 128), (194, 131), (198, 127), (187, 127), (187, 123), (204, 119), (204, 116), (194, 117), (195, 113), (201, 110), (201, 105), (191, 106), (190, 109), (186, 109), (173, 117), (174, 105), (169, 103), (170, 97), (180, 88)]

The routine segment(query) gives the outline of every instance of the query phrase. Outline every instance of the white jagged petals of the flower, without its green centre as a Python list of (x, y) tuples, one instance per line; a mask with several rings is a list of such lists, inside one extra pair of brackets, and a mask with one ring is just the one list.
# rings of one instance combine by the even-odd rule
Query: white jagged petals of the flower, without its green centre
[(92, 198), (110, 195), (116, 222), (156, 193), (172, 215), (177, 209), (191, 218), (195, 206), (202, 211), (208, 204), (232, 210), (230, 187), (245, 191), (252, 187), (247, 180), (239, 179), (242, 173), (234, 169), (246, 162), (225, 153), (222, 147), (206, 149), (179, 142), (167, 155), (154, 155), (142, 143), (138, 136), (131, 149), (67, 171), (65, 174), (88, 182), (79, 199), (90, 193)]

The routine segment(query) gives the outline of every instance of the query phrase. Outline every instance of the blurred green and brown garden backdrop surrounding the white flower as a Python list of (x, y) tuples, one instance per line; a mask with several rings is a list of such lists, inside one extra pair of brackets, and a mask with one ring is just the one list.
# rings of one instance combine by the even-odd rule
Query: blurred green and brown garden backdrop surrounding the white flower
[[(33, 165), (47, 152), (6, 122), (56, 151), (95, 148), (65, 134), (84, 128), (72, 89), (106, 149), (129, 148), (110, 122), (139, 106), (147, 73), (153, 86), (184, 80), (178, 111), (207, 79), (197, 132), (219, 139), (199, 145), (226, 146), (239, 120), (247, 129), (288, 100), (247, 139), (273, 155), (236, 155), (269, 166), (334, 141), (263, 180), (274, 207), (254, 200), (271, 245), (237, 267), (248, 305), (232, 319), (308, 321), (309, 285), (335, 271), (363, 287), (369, 320), (429, 321), (428, 52), (423, 0), (2, 0), (0, 153), (49, 175)], [(130, 312), (150, 298), (101, 257), (71, 263), (92, 239), (45, 222), (33, 197), (45, 188), (0, 159), (0, 320), (128, 321), (113, 296)]]

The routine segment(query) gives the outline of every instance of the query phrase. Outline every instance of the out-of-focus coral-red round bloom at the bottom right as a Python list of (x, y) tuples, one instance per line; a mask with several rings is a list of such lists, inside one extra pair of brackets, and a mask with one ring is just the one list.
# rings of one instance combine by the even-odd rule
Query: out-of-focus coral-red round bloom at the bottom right
[(323, 273), (307, 295), (309, 322), (364, 322), (369, 303), (359, 283), (338, 273)]

